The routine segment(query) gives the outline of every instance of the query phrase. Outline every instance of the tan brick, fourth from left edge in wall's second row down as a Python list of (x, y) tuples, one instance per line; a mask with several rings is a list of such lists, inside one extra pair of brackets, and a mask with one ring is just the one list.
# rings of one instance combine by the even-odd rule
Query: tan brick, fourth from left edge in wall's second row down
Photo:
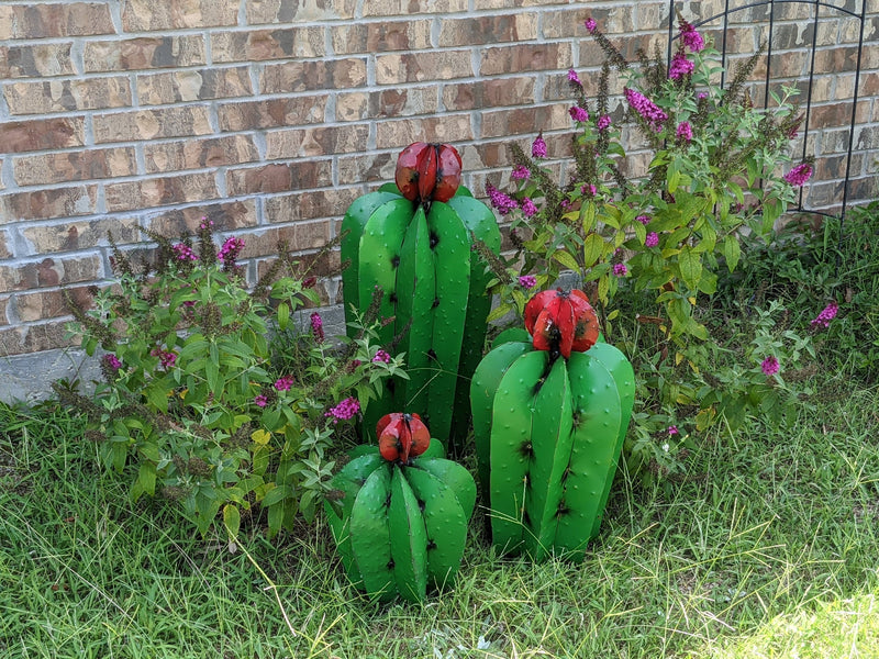
[(385, 53), (388, 51), (427, 51), (431, 20), (382, 21), (333, 25), (333, 51), (336, 55)]

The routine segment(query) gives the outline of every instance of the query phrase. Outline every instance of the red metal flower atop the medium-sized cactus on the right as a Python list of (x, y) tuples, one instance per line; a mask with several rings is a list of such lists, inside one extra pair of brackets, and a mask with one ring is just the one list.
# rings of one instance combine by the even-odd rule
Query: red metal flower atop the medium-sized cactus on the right
[(560, 354), (565, 359), (571, 350), (585, 353), (598, 340), (598, 316), (586, 293), (543, 291), (525, 305), (525, 330), (537, 350)]

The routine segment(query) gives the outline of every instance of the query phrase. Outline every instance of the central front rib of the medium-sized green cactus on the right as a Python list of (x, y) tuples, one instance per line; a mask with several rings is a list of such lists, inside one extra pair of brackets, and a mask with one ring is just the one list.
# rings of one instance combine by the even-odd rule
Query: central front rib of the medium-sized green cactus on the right
[(546, 558), (555, 540), (568, 461), (571, 454), (571, 399), (568, 369), (556, 359), (534, 401), (532, 460), (525, 512), (533, 533), (525, 546), (535, 561)]

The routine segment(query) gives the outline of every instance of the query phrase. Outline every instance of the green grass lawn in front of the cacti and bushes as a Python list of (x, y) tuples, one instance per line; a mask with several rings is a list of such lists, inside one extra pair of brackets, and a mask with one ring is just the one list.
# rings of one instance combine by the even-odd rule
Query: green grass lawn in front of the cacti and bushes
[(354, 591), (320, 522), (232, 552), (132, 505), (80, 417), (0, 406), (0, 657), (879, 657), (879, 390), (852, 387), (712, 432), (665, 491), (619, 474), (583, 563), (501, 559), (477, 513), (419, 606)]

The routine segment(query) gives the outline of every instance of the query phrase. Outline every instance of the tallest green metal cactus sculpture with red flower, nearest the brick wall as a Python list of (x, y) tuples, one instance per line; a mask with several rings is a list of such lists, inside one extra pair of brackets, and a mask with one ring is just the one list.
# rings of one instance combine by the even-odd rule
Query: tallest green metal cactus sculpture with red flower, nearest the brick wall
[[(419, 412), (436, 437), (464, 438), (468, 386), (482, 358), (490, 277), (472, 238), (494, 252), (491, 210), (460, 186), (461, 160), (449, 145), (419, 142), (397, 161), (396, 185), (357, 199), (342, 222), (345, 313), (366, 310), (381, 288), (380, 313), (393, 319), (381, 340), (405, 353), (409, 380), (392, 380), (367, 409), (364, 427), (390, 410)], [(454, 411), (454, 413), (453, 413)], [(453, 417), (456, 427), (453, 431)]]

